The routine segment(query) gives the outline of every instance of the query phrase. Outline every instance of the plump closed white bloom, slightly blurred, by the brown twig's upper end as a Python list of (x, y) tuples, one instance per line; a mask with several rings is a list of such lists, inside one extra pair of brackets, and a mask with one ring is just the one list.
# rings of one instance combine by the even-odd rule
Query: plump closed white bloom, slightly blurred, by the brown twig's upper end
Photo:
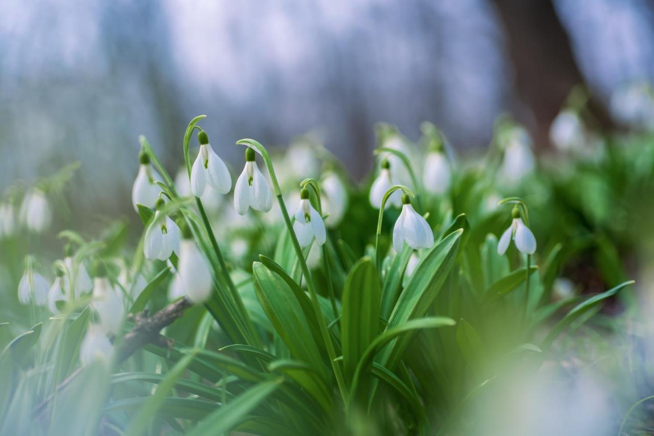
[(186, 296), (194, 303), (207, 301), (213, 286), (211, 271), (193, 239), (182, 239), (178, 266)]

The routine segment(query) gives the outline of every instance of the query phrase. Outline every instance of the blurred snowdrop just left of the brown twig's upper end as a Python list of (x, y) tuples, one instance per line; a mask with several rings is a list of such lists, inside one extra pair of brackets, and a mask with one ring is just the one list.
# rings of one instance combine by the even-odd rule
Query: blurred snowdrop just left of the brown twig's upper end
[(105, 333), (116, 335), (122, 325), (124, 309), (120, 297), (107, 278), (107, 269), (100, 261), (95, 264), (92, 304), (100, 318), (99, 326)]

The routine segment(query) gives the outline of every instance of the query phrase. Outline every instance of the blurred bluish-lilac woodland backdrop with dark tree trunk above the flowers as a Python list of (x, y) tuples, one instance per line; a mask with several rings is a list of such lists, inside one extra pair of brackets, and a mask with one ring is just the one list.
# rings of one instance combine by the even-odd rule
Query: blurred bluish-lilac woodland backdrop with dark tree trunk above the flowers
[(648, 0), (2, 4), (0, 188), (79, 160), (80, 218), (129, 213), (138, 135), (174, 173), (197, 114), (235, 165), (237, 139), (286, 146), (313, 131), (361, 178), (375, 122), (417, 139), (430, 120), (466, 152), (508, 111), (544, 148), (576, 84), (615, 127), (612, 93), (654, 78)]

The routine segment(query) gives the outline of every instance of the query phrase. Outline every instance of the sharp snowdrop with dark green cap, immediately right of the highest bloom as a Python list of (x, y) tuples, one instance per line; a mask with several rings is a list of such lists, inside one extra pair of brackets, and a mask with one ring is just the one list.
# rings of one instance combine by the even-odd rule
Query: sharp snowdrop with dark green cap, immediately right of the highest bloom
[(234, 187), (234, 207), (239, 215), (245, 215), (248, 208), (268, 212), (273, 207), (273, 194), (266, 177), (259, 171), (254, 160), (254, 150), (245, 150), (245, 168)]

